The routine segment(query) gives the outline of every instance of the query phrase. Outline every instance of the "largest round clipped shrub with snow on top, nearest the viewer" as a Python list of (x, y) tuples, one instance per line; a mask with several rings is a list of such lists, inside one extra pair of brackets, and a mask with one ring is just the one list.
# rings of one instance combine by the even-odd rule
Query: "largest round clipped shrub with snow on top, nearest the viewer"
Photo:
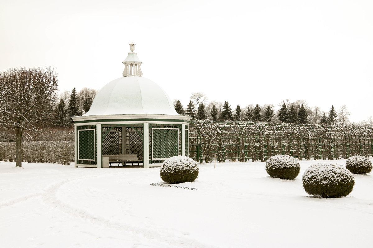
[(355, 184), (354, 175), (338, 164), (311, 165), (302, 180), (308, 194), (323, 198), (347, 196)]

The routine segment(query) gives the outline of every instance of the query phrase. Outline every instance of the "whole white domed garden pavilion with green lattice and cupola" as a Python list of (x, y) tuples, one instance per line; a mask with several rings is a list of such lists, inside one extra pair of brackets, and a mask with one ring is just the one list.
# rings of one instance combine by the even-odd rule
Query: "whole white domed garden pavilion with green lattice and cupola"
[(148, 168), (169, 157), (188, 156), (191, 117), (179, 115), (167, 93), (142, 77), (135, 44), (129, 45), (123, 77), (106, 84), (87, 113), (72, 117), (75, 167), (142, 162)]

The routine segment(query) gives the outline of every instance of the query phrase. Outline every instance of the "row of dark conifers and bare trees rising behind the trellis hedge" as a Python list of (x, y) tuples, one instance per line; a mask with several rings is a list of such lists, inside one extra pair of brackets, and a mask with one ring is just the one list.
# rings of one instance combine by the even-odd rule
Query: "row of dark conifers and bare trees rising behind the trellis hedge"
[[(207, 103), (207, 96), (202, 92), (192, 93), (189, 103), (186, 107), (182, 105), (180, 100), (173, 100), (176, 112), (180, 115), (189, 115), (198, 120), (252, 120), (259, 122), (280, 122), (280, 123), (302, 123), (302, 124), (351, 124), (348, 116), (351, 112), (348, 111), (345, 105), (339, 107), (338, 110), (334, 105), (328, 112), (322, 112), (319, 106), (308, 107), (305, 100), (297, 100), (291, 102), (289, 99), (283, 100), (278, 104), (280, 107), (276, 112), (275, 105), (250, 104), (242, 108), (237, 105), (235, 110), (232, 110), (227, 101), (224, 103), (211, 101)], [(372, 118), (371, 118), (372, 119)], [(369, 121), (364, 123), (369, 125)]]

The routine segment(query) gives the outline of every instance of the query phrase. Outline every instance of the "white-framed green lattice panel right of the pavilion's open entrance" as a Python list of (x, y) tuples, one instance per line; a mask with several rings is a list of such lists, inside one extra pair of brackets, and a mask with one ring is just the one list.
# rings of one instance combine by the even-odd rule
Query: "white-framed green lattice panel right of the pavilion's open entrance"
[(179, 129), (152, 129), (152, 159), (164, 160), (179, 155)]

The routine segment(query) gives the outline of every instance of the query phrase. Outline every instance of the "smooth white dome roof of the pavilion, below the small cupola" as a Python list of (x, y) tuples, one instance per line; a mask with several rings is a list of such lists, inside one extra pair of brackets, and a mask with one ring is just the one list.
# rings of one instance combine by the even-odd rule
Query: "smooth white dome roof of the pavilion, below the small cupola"
[(98, 91), (83, 116), (161, 114), (179, 115), (164, 90), (144, 77), (121, 77)]

